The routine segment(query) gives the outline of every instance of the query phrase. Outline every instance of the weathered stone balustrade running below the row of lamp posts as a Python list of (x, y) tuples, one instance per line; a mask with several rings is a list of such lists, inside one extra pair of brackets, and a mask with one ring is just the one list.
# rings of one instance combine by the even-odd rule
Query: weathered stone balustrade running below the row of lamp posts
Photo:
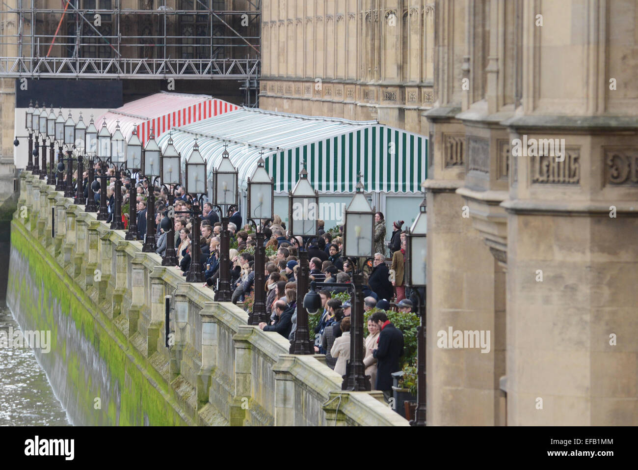
[(159, 255), (142, 253), (142, 242), (126, 241), (124, 231), (110, 230), (45, 181), (22, 172), (20, 188), (16, 232), (87, 294), (85, 307), (135, 352), (140, 373), (168, 384), (167, 400), (186, 423), (408, 425), (380, 391), (341, 391), (341, 377), (323, 356), (288, 354), (281, 335), (246, 324), (241, 308), (214, 301), (211, 289), (185, 282)]

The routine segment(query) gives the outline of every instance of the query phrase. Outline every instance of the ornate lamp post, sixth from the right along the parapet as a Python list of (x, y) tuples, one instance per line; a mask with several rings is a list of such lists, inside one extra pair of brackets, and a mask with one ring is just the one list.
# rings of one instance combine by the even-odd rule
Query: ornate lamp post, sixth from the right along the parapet
[(193, 146), (193, 152), (186, 160), (186, 193), (193, 195), (193, 245), (191, 248), (191, 266), (186, 275), (186, 282), (204, 282), (204, 273), (200, 264), (202, 250), (200, 248), (200, 206), (198, 197), (206, 193), (206, 162), (199, 152), (197, 140)]

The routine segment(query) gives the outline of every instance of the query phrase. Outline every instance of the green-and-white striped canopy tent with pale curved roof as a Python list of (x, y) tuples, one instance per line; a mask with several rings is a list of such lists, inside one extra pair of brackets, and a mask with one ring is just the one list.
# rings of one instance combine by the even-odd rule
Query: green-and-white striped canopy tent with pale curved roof
[[(353, 192), (359, 172), (367, 192), (417, 193), (427, 178), (427, 138), (377, 121), (242, 108), (181, 126), (171, 135), (182, 164), (191, 155), (197, 138), (209, 179), (227, 145), (243, 190), (260, 155), (276, 193), (293, 188), (304, 159), (308, 178), (320, 193)], [(158, 140), (162, 149), (168, 138), (166, 133)]]

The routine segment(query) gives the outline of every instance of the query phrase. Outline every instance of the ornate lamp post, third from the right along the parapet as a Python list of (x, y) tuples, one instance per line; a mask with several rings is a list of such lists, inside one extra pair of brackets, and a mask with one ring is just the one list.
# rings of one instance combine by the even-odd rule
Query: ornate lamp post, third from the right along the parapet
[[(319, 207), (319, 193), (308, 181), (306, 162), (299, 173), (299, 181), (288, 193), (288, 220), (290, 221), (290, 236), (300, 235), (304, 246), (299, 247), (299, 275), (297, 276), (297, 330), (295, 338), (290, 344), (290, 354), (315, 354), (315, 344), (310, 340), (308, 332), (308, 312), (300, 299), (308, 292), (308, 252), (306, 243), (315, 238), (318, 232), (317, 209)], [(363, 341), (363, 340), (362, 340)]]

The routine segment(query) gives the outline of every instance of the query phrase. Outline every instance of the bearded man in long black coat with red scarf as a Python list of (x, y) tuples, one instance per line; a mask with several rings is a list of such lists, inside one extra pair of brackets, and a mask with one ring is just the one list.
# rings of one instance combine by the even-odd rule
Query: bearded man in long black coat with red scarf
[(376, 349), (372, 355), (378, 361), (376, 364), (376, 390), (383, 391), (386, 401), (392, 393), (392, 372), (401, 370), (399, 358), (403, 356), (403, 333), (388, 320), (385, 312), (375, 312), (370, 320), (381, 330)]

